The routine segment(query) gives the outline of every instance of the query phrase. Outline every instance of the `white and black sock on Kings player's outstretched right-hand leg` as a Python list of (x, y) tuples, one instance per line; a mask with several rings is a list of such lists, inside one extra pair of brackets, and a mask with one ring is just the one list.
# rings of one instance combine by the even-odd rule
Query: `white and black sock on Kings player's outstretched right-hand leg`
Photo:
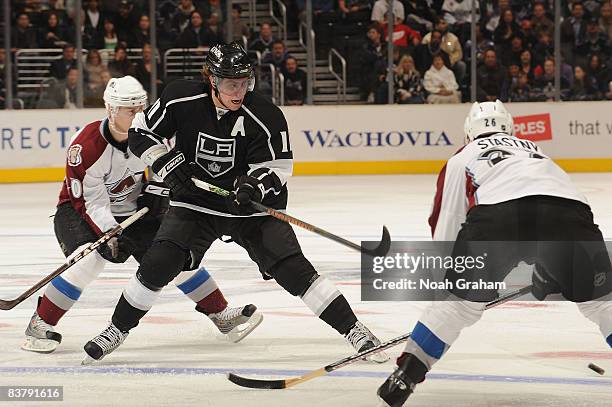
[(302, 301), (321, 320), (342, 335), (357, 322), (357, 317), (344, 295), (323, 276), (319, 276), (302, 295)]

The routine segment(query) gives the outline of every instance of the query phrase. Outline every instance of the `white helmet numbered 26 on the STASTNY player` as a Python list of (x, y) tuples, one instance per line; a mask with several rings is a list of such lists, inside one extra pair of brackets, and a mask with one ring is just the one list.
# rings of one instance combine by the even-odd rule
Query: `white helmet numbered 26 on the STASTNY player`
[(483, 134), (506, 133), (514, 136), (514, 121), (499, 99), (495, 102), (475, 102), (465, 118), (463, 131), (466, 144)]

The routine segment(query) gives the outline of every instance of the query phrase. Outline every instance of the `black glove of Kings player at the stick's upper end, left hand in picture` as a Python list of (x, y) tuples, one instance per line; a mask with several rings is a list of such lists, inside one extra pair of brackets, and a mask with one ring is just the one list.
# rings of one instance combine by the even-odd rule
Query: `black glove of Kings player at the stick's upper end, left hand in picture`
[(172, 191), (173, 196), (195, 194), (199, 191), (191, 177), (195, 175), (192, 163), (188, 163), (180, 151), (170, 151), (159, 157), (151, 166), (153, 171), (162, 177)]

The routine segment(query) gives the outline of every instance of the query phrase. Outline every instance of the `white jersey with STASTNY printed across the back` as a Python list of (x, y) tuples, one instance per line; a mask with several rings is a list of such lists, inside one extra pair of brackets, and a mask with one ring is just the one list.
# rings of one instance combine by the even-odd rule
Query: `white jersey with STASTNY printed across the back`
[(569, 176), (532, 141), (494, 134), (462, 147), (438, 175), (429, 225), (434, 240), (453, 241), (476, 205), (532, 195), (588, 204)]

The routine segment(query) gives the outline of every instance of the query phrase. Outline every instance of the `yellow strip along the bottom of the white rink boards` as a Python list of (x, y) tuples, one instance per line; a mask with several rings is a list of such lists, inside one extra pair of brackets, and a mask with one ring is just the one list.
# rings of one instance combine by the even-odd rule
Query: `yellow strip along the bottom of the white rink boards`
[[(567, 172), (612, 172), (612, 158), (555, 160)], [(338, 161), (294, 163), (295, 175), (435, 174), (445, 161)], [(0, 169), (0, 183), (57, 182), (64, 168)]]

